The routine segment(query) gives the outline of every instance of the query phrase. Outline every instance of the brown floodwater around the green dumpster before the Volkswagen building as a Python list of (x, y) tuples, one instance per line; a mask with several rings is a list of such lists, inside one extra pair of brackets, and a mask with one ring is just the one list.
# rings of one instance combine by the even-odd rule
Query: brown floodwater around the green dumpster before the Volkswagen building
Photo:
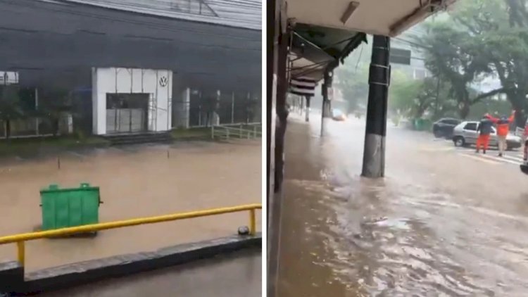
[[(41, 224), (39, 190), (49, 184), (78, 187), (89, 182), (100, 187), (101, 222), (260, 203), (261, 153), (260, 141), (190, 142), (5, 161), (0, 165), (0, 235), (31, 232)], [(249, 225), (248, 213), (112, 229), (99, 232), (94, 239), (30, 241), (26, 267), (32, 271), (214, 239), (236, 233), (241, 225)], [(15, 258), (14, 244), (0, 246), (0, 260)]]

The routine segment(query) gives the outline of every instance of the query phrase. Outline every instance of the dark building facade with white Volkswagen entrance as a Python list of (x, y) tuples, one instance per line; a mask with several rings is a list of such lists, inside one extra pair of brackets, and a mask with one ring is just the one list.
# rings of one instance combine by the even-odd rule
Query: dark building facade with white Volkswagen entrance
[(48, 132), (51, 111), (70, 119), (62, 132), (84, 134), (260, 119), (260, 27), (234, 26), (232, 14), (218, 23), (123, 1), (69, 2), (0, 0), (0, 71), (16, 74), (30, 102), (13, 136)]

